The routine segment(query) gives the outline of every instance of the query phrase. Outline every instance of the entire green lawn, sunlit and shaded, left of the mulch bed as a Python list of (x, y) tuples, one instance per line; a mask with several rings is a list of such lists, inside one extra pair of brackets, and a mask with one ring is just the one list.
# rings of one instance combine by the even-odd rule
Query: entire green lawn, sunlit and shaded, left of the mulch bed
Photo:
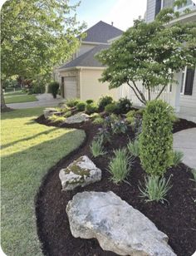
[(76, 149), (81, 130), (37, 124), (42, 108), (2, 113), (2, 249), (7, 255), (42, 255), (34, 197), (52, 165)]

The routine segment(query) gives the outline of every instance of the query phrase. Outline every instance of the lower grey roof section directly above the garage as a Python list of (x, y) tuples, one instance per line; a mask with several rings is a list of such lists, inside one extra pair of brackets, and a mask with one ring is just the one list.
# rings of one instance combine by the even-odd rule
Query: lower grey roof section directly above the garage
[(59, 70), (66, 69), (75, 66), (95, 66), (101, 67), (103, 66), (100, 62), (98, 62), (95, 58), (96, 53), (109, 48), (110, 45), (98, 45), (97, 47), (92, 48), (89, 52), (82, 54), (71, 62), (66, 63), (61, 66)]

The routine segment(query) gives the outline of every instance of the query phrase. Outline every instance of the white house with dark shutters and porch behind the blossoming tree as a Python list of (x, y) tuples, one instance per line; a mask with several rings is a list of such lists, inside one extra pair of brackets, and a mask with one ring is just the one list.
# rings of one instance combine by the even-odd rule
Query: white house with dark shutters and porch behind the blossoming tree
[[(146, 22), (153, 22), (156, 15), (164, 7), (172, 7), (174, 0), (147, 0), (147, 10), (145, 14)], [(181, 7), (174, 7), (176, 11), (181, 12), (179, 18), (170, 22), (192, 22), (196, 21), (196, 6), (194, 2), (188, 0), (186, 5)], [(184, 13), (186, 8), (190, 9), (189, 13)], [(177, 73), (176, 79), (178, 85), (169, 85), (163, 92), (161, 98), (174, 106), (175, 111), (179, 112), (180, 117), (186, 117), (191, 121), (196, 122), (196, 74), (195, 69), (185, 68), (183, 71)], [(140, 90), (146, 93), (144, 87), (140, 82), (137, 83)], [(158, 90), (154, 91), (154, 97), (157, 96)], [(135, 105), (140, 105), (140, 101), (136, 98), (134, 92), (129, 86), (121, 86), (120, 96), (128, 96)], [(152, 97), (153, 97), (152, 96)]]

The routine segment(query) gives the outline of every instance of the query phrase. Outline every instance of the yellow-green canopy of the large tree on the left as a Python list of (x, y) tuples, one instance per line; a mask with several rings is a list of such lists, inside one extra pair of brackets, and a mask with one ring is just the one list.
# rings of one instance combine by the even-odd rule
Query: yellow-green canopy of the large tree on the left
[[(2, 82), (11, 76), (51, 78), (76, 51), (84, 24), (64, 0), (8, 0), (2, 6)], [(73, 15), (71, 16), (71, 13)], [(3, 108), (3, 106), (1, 106)], [(4, 106), (5, 107), (5, 106)]]

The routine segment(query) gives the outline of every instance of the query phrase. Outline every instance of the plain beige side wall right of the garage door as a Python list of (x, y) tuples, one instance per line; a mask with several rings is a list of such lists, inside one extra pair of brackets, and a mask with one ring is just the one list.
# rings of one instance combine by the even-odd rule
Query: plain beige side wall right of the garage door
[(81, 71), (81, 100), (99, 100), (100, 96), (110, 95), (118, 99), (118, 89), (109, 90), (109, 83), (101, 83), (98, 79), (103, 70), (82, 69)]

